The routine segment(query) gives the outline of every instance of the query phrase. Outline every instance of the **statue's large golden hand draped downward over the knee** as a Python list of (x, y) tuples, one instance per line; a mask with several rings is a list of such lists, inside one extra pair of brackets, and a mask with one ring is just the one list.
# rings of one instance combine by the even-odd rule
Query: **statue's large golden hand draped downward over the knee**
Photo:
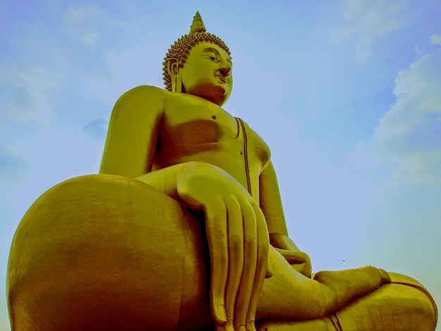
[(178, 172), (180, 199), (203, 210), (211, 256), (211, 315), (218, 330), (256, 330), (269, 237), (259, 205), (221, 168), (191, 162)]

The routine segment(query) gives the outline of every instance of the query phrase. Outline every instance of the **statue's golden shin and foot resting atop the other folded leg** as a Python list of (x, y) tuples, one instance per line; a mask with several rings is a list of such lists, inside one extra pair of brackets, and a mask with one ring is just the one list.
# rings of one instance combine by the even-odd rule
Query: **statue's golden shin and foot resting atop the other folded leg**
[(322, 271), (311, 280), (294, 270), (272, 247), (269, 268), (273, 276), (264, 281), (259, 296), (260, 320), (322, 318), (389, 280), (387, 273), (373, 267)]

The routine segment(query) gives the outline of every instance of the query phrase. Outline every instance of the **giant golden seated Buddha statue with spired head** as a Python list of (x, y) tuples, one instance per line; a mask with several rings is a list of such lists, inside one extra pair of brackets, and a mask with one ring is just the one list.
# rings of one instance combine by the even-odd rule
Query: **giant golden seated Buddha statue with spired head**
[(49, 189), (21, 221), (13, 330), (434, 330), (410, 277), (311, 278), (268, 146), (221, 108), (232, 59), (199, 13), (165, 60), (168, 91), (136, 87), (113, 108), (100, 174)]

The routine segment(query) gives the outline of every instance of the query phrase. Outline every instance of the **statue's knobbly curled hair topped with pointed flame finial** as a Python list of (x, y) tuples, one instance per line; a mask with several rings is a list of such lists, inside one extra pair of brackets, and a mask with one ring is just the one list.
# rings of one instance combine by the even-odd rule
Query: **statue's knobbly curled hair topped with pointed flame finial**
[(170, 75), (168, 74), (168, 63), (170, 60), (174, 59), (179, 62), (180, 68), (184, 66), (185, 60), (187, 59), (187, 55), (192, 49), (192, 47), (198, 42), (213, 42), (218, 46), (225, 49), (228, 55), (231, 55), (230, 49), (221, 38), (216, 37), (215, 35), (211, 35), (211, 33), (206, 32), (206, 28), (204, 26), (204, 22), (202, 21), (201, 15), (199, 15), (199, 11), (196, 12), (196, 15), (193, 17), (193, 23), (190, 27), (190, 33), (188, 35), (184, 35), (180, 37), (173, 45), (168, 49), (168, 53), (164, 58), (163, 66), (163, 80), (164, 85), (166, 85), (166, 89), (168, 91), (172, 90), (172, 84)]

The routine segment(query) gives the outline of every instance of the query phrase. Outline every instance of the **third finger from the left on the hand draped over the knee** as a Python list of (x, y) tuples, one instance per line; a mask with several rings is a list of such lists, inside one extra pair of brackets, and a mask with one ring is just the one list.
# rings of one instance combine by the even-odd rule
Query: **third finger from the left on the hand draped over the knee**
[(239, 291), (237, 292), (234, 325), (236, 330), (245, 330), (249, 301), (251, 300), (254, 278), (256, 277), (257, 228), (256, 214), (249, 201), (240, 201), (240, 206), (242, 207), (244, 226), (244, 270), (242, 272), (242, 279), (240, 280)]

